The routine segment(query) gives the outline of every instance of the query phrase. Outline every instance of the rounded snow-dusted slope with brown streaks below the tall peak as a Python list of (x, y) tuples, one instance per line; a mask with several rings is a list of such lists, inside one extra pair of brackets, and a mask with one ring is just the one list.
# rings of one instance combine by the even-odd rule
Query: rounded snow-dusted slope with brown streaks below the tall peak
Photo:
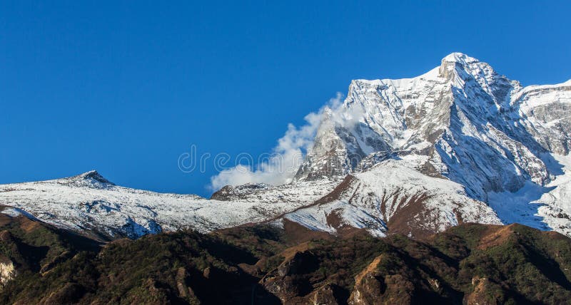
[(485, 203), (444, 177), (430, 177), (403, 160), (385, 160), (367, 172), (348, 175), (329, 197), (285, 215), (311, 229), (343, 233), (367, 229), (419, 237), (463, 222), (501, 224)]

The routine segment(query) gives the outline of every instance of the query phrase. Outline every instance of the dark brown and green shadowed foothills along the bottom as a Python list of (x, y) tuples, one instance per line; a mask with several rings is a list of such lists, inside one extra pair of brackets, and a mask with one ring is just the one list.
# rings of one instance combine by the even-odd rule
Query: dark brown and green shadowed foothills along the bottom
[[(335, 222), (335, 219), (331, 219)], [(571, 239), (461, 224), (422, 241), (295, 222), (101, 244), (0, 214), (1, 304), (567, 304)], [(4, 276), (5, 274), (3, 274)]]

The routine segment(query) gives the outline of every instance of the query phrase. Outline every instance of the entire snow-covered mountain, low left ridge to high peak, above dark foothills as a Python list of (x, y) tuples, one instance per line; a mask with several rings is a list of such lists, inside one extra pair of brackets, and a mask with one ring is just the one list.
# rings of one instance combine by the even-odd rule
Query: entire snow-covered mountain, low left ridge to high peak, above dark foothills
[(415, 78), (352, 81), (290, 184), (228, 186), (207, 200), (88, 172), (0, 185), (0, 204), (107, 238), (284, 219), (338, 234), (520, 222), (571, 236), (570, 134), (571, 81), (524, 88), (452, 53)]

